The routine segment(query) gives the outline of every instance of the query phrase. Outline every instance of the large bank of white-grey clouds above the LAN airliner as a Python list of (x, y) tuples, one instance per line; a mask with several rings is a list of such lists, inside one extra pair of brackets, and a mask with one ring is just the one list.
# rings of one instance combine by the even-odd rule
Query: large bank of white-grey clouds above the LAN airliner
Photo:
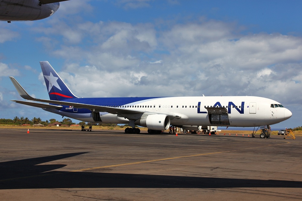
[[(79, 96), (256, 95), (281, 102), (288, 100), (280, 91), (294, 95), (302, 87), (301, 37), (237, 35), (241, 28), (213, 20), (160, 32), (123, 22), (56, 26), (62, 44), (51, 46), (48, 34), (46, 45), (66, 60), (63, 76)], [(79, 37), (68, 38), (69, 30)], [(83, 61), (87, 66), (74, 64)]]

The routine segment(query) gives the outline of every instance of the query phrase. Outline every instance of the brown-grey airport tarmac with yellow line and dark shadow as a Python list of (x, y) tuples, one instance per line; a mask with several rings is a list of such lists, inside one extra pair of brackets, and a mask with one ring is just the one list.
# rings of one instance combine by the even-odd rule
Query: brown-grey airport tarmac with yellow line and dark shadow
[(302, 137), (0, 129), (0, 200), (302, 199)]

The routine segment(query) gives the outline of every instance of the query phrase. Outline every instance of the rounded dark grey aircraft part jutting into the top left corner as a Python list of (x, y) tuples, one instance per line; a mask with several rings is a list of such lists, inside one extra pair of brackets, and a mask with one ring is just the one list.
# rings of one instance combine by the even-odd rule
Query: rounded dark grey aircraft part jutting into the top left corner
[(68, 0), (0, 0), (0, 21), (33, 21), (48, 18)]

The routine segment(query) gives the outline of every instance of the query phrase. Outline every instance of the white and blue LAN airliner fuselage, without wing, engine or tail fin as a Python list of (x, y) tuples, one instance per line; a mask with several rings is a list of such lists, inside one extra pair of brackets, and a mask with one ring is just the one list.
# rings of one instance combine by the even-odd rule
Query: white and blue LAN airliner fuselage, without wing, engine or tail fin
[[(171, 118), (172, 125), (254, 127), (276, 124), (291, 117), (291, 112), (280, 103), (255, 96), (74, 98), (66, 101), (144, 111), (145, 113), (179, 114), (178, 118)], [(275, 105), (281, 107), (275, 107)], [(226, 108), (228, 122), (212, 121), (213, 117), (210, 117), (207, 108), (214, 107)], [(126, 124), (130, 120), (137, 119), (137, 115), (119, 116), (99, 111), (101, 121), (95, 121), (91, 110), (72, 106), (63, 106), (60, 110), (49, 108), (45, 110), (93, 123)]]

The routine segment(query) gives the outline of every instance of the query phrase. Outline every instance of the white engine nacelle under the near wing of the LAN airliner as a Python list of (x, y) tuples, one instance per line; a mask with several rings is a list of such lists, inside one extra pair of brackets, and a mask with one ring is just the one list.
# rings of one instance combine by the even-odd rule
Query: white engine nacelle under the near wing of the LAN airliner
[(170, 117), (165, 114), (150, 114), (136, 120), (135, 124), (151, 130), (168, 130), (170, 127)]

